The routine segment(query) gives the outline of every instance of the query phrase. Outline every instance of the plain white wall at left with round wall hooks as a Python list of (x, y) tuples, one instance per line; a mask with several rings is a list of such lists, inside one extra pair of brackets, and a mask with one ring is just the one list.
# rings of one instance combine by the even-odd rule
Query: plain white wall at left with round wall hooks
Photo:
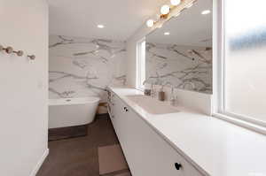
[(0, 0), (0, 16), (0, 44), (36, 56), (0, 52), (0, 175), (35, 175), (48, 151), (48, 5)]

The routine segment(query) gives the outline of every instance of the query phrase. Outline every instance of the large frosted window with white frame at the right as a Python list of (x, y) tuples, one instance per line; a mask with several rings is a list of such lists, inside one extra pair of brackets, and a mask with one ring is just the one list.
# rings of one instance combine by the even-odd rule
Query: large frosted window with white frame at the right
[(224, 0), (222, 6), (216, 112), (266, 127), (266, 1)]

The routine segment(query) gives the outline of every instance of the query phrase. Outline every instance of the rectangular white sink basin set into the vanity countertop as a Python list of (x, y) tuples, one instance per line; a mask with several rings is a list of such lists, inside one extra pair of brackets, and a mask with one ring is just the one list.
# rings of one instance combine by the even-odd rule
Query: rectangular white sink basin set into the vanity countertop
[(151, 114), (168, 114), (179, 112), (175, 107), (172, 107), (168, 102), (160, 102), (159, 100), (142, 95), (126, 96), (130, 101), (137, 103), (145, 111)]

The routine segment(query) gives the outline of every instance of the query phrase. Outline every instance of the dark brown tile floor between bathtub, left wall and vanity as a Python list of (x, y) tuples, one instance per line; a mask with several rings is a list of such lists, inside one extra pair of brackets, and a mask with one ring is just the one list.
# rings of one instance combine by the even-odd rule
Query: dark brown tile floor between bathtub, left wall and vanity
[(36, 176), (98, 176), (98, 147), (117, 143), (108, 115), (101, 115), (87, 136), (49, 142), (50, 154)]

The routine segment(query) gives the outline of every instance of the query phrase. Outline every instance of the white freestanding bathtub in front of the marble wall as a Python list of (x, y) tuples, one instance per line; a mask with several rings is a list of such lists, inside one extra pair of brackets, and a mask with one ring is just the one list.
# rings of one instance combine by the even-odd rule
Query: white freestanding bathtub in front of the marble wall
[(49, 100), (49, 128), (90, 124), (100, 98), (61, 98)]

